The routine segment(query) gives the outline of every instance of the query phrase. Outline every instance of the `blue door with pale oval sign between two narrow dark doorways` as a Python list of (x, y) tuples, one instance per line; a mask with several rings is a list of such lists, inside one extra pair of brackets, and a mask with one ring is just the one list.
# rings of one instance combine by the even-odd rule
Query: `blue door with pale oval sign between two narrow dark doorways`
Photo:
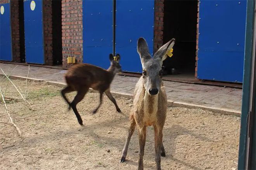
[(43, 1), (24, 1), (25, 55), (27, 63), (44, 64)]

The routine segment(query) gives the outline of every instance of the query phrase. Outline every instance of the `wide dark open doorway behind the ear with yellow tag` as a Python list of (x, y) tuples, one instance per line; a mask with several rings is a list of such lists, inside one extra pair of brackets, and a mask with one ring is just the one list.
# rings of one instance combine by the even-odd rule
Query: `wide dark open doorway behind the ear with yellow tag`
[(175, 38), (173, 56), (163, 62), (166, 77), (195, 79), (197, 0), (164, 1), (164, 43)]

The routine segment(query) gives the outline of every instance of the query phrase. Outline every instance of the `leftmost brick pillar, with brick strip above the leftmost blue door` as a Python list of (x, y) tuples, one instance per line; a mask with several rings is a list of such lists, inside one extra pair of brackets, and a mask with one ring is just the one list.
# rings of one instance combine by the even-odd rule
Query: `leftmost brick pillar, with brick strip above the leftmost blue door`
[(0, 0), (0, 4), (10, 3), (10, 19), (12, 28), (12, 59), (21, 62), (19, 39), (19, 2), (17, 0)]

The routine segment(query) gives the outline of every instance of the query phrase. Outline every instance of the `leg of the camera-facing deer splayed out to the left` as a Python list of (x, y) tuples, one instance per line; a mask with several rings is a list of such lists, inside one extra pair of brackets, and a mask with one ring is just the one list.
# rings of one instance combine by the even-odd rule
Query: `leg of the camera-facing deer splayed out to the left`
[(133, 118), (133, 116), (130, 117), (130, 128), (129, 128), (129, 131), (128, 131), (128, 136), (127, 136), (127, 139), (126, 139), (126, 142), (125, 142), (125, 146), (123, 148), (123, 151), (122, 151), (122, 157), (121, 157), (121, 160), (120, 162), (123, 163), (125, 162), (125, 158), (126, 158), (126, 155), (127, 155), (127, 150), (128, 150), (128, 146), (129, 146), (129, 143), (130, 143), (130, 140), (131, 140), (131, 136), (134, 132), (134, 129), (135, 129), (135, 126), (136, 126), (136, 122)]

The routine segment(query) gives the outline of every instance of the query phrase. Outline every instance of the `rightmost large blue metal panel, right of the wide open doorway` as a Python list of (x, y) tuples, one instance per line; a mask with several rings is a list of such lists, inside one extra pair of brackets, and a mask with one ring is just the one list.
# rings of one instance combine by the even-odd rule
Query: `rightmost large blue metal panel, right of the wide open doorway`
[(246, 1), (200, 1), (199, 79), (242, 82), (245, 26)]

